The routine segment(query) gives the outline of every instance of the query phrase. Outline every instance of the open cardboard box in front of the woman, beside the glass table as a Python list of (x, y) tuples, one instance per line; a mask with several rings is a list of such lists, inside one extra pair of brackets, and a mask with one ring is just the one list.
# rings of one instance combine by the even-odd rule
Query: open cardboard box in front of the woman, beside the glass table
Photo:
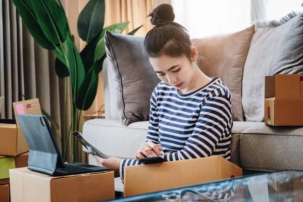
[(124, 168), (124, 197), (242, 176), (221, 156)]

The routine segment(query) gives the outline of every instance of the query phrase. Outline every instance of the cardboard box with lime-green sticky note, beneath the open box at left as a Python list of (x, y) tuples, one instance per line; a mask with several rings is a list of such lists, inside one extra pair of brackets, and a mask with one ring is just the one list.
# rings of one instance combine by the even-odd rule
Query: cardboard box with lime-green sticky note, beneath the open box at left
[(0, 185), (10, 183), (9, 169), (27, 167), (29, 152), (16, 157), (0, 156)]

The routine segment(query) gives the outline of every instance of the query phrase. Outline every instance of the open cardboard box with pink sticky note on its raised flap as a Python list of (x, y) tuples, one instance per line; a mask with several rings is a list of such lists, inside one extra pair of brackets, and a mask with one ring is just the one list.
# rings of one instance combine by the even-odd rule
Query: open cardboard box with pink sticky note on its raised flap
[[(17, 114), (42, 114), (38, 99), (13, 103), (13, 107), (15, 117)], [(18, 120), (0, 119), (0, 155), (15, 157), (27, 151), (29, 148)]]

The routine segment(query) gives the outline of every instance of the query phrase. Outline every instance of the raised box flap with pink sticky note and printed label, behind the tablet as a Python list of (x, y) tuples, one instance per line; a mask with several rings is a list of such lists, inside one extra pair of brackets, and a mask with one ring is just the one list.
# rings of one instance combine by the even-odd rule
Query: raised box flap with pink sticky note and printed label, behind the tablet
[(17, 119), (18, 114), (42, 115), (38, 98), (13, 103), (13, 108), (18, 127), (20, 127), (19, 121)]

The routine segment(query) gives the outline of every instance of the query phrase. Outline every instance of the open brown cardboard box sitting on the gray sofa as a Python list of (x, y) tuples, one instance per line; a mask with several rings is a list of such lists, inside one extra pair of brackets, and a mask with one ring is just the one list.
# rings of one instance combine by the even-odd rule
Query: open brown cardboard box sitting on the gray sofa
[(271, 126), (303, 126), (303, 74), (265, 77), (264, 119)]

